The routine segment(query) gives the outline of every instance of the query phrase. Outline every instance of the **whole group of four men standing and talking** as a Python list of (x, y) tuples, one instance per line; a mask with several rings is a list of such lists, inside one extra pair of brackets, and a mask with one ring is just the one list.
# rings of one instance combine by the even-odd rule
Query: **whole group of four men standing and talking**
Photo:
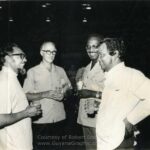
[[(77, 122), (83, 128), (86, 150), (118, 149), (127, 131), (150, 114), (150, 81), (125, 66), (123, 40), (92, 34), (86, 51), (91, 62), (76, 75)], [(41, 45), (42, 61), (28, 70), (22, 88), (17, 75), (25, 72), (25, 53), (16, 44), (1, 49), (0, 149), (33, 149), (31, 117), (35, 150), (46, 149), (39, 145), (40, 137), (63, 134), (63, 99), (72, 86), (64, 69), (53, 63), (56, 53), (55, 43)]]

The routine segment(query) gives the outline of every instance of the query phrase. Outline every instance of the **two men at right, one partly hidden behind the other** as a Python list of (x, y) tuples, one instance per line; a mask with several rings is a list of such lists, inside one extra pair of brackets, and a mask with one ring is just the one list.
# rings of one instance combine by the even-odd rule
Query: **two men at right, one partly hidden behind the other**
[(150, 80), (125, 66), (122, 39), (90, 35), (86, 50), (91, 62), (76, 77), (86, 150), (133, 150), (134, 125), (150, 114)]

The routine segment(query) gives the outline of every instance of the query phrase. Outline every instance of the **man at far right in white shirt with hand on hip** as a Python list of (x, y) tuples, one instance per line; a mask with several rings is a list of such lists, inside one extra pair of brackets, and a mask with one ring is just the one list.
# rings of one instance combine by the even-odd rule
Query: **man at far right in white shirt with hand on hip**
[(97, 150), (117, 149), (125, 127), (150, 114), (150, 80), (123, 62), (124, 42), (105, 38), (100, 46), (100, 65), (105, 71), (102, 101), (96, 123)]

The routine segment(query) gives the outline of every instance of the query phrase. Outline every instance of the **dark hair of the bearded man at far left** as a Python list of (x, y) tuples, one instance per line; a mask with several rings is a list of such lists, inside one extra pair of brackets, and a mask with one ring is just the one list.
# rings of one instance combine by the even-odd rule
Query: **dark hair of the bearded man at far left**
[(18, 45), (15, 43), (7, 43), (5, 46), (0, 48), (0, 70), (2, 69), (5, 63), (5, 56), (10, 53), (13, 53), (13, 47), (18, 47)]

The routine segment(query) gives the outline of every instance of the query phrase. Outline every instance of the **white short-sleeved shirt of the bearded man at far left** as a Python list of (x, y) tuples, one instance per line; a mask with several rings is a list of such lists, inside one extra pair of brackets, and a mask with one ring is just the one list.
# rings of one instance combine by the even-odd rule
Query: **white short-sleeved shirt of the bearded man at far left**
[[(0, 72), (0, 114), (17, 113), (28, 106), (28, 101), (17, 74), (8, 67)], [(1, 150), (32, 150), (31, 119), (26, 118), (0, 129)]]

